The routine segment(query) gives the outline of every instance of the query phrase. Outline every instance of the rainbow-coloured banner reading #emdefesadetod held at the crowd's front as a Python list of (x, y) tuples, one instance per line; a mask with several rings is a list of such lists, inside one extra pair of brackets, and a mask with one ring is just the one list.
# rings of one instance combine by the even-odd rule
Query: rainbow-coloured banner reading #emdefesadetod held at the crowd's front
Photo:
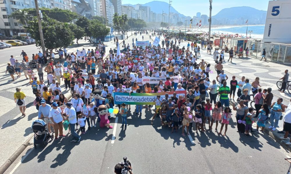
[[(157, 95), (161, 96), (161, 99), (165, 98), (165, 94), (168, 94), (169, 97), (173, 96), (173, 93), (177, 93), (177, 97), (179, 95), (186, 96), (186, 91), (169, 91), (163, 93), (113, 93), (114, 104), (132, 104), (132, 105), (145, 105), (145, 104), (155, 104), (155, 99), (157, 99)], [(129, 95), (130, 94), (130, 95)]]

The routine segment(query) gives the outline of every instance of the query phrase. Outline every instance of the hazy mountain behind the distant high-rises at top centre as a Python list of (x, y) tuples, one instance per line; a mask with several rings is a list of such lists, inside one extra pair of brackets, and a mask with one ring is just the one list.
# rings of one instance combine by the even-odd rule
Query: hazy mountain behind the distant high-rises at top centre
[[(151, 1), (151, 2), (148, 2), (145, 4), (141, 4), (141, 5), (142, 6), (149, 6), (150, 10), (154, 13), (157, 13), (157, 14), (162, 14), (162, 10), (164, 10), (164, 13), (169, 12), (169, 3), (162, 2), (162, 1)], [(132, 5), (132, 4), (123, 4), (123, 6), (135, 7), (135, 5)], [(170, 7), (170, 12), (177, 13), (181, 16), (185, 16), (185, 15), (179, 13), (177, 10), (175, 10), (175, 8), (173, 8), (172, 6)]]

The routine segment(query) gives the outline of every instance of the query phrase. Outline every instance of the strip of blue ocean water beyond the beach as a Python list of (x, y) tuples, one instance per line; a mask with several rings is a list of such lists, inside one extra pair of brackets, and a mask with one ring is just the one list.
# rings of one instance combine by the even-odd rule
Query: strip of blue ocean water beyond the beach
[[(211, 33), (223, 33), (223, 34), (239, 34), (241, 36), (246, 36), (246, 25), (245, 26), (225, 26), (220, 28), (211, 28)], [(265, 25), (249, 25), (248, 31), (253, 30), (251, 37), (253, 38), (263, 38)], [(250, 33), (248, 32), (248, 37)]]

